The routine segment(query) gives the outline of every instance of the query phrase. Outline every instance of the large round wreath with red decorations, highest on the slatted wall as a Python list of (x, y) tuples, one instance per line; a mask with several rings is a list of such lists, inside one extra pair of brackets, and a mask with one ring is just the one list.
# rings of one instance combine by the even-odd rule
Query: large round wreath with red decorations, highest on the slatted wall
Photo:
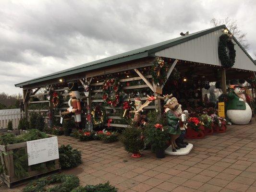
[(120, 82), (118, 79), (107, 79), (103, 83), (103, 99), (111, 107), (116, 107), (120, 103)]

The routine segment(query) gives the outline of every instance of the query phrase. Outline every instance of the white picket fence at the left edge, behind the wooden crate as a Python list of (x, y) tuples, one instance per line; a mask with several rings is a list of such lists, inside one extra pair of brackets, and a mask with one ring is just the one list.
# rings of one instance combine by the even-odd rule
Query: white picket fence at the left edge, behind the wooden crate
[(17, 129), (22, 117), (24, 117), (24, 112), (20, 112), (19, 108), (0, 110), (0, 129), (7, 128), (9, 120), (12, 120), (12, 128)]

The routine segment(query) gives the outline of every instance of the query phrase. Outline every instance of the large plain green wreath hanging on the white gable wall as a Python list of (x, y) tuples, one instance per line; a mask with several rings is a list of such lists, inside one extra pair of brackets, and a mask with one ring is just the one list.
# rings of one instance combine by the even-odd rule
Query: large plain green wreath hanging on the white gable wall
[[(229, 54), (226, 48), (229, 49)], [(234, 65), (236, 53), (231, 36), (224, 34), (219, 37), (218, 54), (222, 66), (230, 68)]]

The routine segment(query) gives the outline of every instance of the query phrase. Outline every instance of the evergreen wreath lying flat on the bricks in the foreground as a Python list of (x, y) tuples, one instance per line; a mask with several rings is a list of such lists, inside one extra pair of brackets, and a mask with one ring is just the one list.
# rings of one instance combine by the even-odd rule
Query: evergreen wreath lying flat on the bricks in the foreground
[[(51, 188), (46, 186), (53, 183), (61, 183)], [(23, 192), (70, 192), (79, 186), (79, 179), (74, 175), (51, 175), (34, 180), (26, 185)]]

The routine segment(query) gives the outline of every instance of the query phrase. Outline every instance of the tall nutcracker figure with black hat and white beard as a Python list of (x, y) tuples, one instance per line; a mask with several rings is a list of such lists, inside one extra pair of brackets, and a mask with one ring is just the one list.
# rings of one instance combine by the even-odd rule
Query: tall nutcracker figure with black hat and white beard
[(70, 99), (68, 101), (69, 108), (67, 109), (68, 112), (72, 113), (72, 117), (74, 118), (74, 122), (77, 128), (80, 129), (81, 127), (81, 96), (78, 91), (78, 84), (77, 82), (69, 82), (69, 95)]

